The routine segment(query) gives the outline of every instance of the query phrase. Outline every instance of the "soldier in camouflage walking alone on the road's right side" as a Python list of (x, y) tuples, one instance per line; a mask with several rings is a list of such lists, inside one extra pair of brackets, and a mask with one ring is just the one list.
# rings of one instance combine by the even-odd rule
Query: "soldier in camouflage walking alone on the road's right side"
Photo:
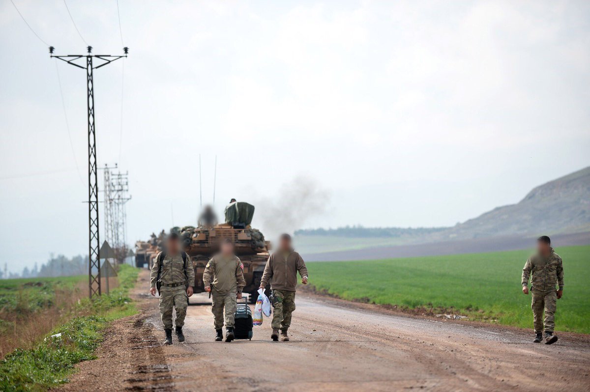
[[(540, 343), (543, 340), (543, 324), (545, 324), (545, 344), (557, 341), (553, 335), (555, 328), (556, 302), (563, 295), (563, 263), (562, 259), (551, 248), (551, 240), (548, 236), (540, 236), (537, 239), (537, 253), (530, 256), (522, 269), (522, 292), (529, 294), (529, 275), (531, 275), (530, 288), (532, 294), (533, 322), (535, 324), (535, 340)], [(555, 285), (559, 289), (555, 290)], [(543, 310), (545, 319), (543, 319)]]

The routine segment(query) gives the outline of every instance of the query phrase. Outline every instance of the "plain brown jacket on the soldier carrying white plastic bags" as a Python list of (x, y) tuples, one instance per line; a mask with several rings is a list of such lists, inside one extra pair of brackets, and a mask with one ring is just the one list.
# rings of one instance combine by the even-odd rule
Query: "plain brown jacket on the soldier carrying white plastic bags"
[(308, 276), (305, 262), (297, 252), (290, 252), (287, 257), (281, 252), (275, 252), (268, 258), (262, 275), (261, 286), (270, 286), (275, 290), (295, 291), (297, 286), (297, 271), (301, 278)]

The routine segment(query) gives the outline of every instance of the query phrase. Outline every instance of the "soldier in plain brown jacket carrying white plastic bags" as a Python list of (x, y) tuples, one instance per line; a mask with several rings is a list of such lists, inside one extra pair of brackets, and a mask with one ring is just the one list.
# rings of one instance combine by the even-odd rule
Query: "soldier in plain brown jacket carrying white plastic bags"
[(287, 330), (291, 325), (291, 313), (295, 310), (295, 286), (297, 285), (297, 271), (301, 275), (301, 283), (307, 284), (307, 268), (299, 253), (293, 251), (291, 236), (281, 234), (278, 251), (268, 258), (260, 288), (264, 289), (270, 281), (273, 290), (270, 300), (273, 304), (274, 315), (271, 326), (271, 339), (278, 341), (278, 330), (281, 340), (289, 341)]

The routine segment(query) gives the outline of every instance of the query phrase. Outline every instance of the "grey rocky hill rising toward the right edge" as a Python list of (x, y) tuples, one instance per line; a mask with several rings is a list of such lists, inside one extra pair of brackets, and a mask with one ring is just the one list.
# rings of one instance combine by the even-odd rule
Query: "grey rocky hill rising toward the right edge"
[(497, 207), (437, 235), (438, 240), (590, 231), (590, 167), (531, 190), (514, 205)]

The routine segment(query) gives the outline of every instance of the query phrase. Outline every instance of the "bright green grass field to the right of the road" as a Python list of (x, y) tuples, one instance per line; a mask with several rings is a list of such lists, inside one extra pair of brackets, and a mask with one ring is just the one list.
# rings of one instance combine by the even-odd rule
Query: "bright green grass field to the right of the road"
[[(590, 246), (556, 249), (563, 258), (563, 298), (556, 330), (590, 334)], [(520, 275), (530, 251), (375, 261), (307, 263), (310, 284), (343, 299), (404, 308), (455, 308), (470, 319), (532, 328), (530, 295)]]

